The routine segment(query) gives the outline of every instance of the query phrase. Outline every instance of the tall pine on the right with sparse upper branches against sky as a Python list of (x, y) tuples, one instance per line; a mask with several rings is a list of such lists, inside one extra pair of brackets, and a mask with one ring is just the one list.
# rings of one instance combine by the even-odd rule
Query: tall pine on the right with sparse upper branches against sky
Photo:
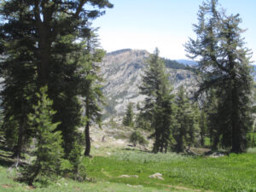
[(199, 23), (195, 25), (197, 39), (189, 39), (186, 49), (190, 58), (199, 58), (197, 69), (202, 81), (197, 95), (217, 90), (218, 125), (221, 125), (218, 134), (222, 135), (222, 145), (240, 153), (246, 149), (251, 121), (250, 57), (241, 38), (239, 15), (225, 15), (218, 11), (217, 5), (217, 0), (211, 0), (200, 7)]

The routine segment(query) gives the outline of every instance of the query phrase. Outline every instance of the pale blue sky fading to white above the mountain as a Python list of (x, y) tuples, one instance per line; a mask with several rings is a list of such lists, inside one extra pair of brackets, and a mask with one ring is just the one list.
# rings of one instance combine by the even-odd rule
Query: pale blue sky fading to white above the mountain
[[(202, 0), (109, 0), (113, 9), (93, 20), (100, 27), (98, 34), (102, 48), (108, 52), (117, 49), (146, 49), (172, 60), (188, 59), (184, 44), (195, 38), (193, 24)], [(241, 28), (246, 47), (252, 49), (256, 61), (256, 1), (218, 0), (228, 15), (241, 16)]]

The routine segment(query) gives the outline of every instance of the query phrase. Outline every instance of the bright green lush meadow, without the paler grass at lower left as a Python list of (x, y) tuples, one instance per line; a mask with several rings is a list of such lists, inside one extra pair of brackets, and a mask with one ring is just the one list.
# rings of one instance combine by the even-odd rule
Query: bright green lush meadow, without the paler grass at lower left
[[(219, 158), (184, 157), (177, 154), (119, 152), (84, 162), (90, 177), (156, 189), (167, 185), (213, 191), (256, 191), (256, 154), (230, 154)], [(160, 172), (164, 180), (148, 176)], [(121, 175), (138, 177), (120, 178)]]

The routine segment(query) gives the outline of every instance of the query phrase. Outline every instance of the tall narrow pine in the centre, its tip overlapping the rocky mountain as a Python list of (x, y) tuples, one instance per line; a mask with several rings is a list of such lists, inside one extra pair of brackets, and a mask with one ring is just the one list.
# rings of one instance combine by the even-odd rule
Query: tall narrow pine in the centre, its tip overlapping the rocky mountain
[(146, 95), (142, 108), (145, 117), (154, 129), (154, 153), (166, 151), (170, 143), (173, 124), (173, 95), (165, 73), (164, 62), (155, 49), (145, 68), (143, 83), (139, 86), (141, 94)]

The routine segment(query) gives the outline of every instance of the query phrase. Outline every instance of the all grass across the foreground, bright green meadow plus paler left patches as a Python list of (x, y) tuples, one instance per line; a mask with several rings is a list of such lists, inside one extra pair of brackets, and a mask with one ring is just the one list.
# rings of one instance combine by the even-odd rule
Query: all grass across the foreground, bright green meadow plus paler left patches
[[(84, 158), (88, 177), (95, 183), (59, 178), (48, 187), (36, 188), (14, 181), (13, 163), (0, 148), (0, 191), (256, 191), (256, 148), (246, 154), (211, 158), (174, 153), (152, 154), (119, 149), (110, 156)], [(148, 176), (160, 172), (164, 180)], [(137, 175), (137, 177), (120, 177)]]

